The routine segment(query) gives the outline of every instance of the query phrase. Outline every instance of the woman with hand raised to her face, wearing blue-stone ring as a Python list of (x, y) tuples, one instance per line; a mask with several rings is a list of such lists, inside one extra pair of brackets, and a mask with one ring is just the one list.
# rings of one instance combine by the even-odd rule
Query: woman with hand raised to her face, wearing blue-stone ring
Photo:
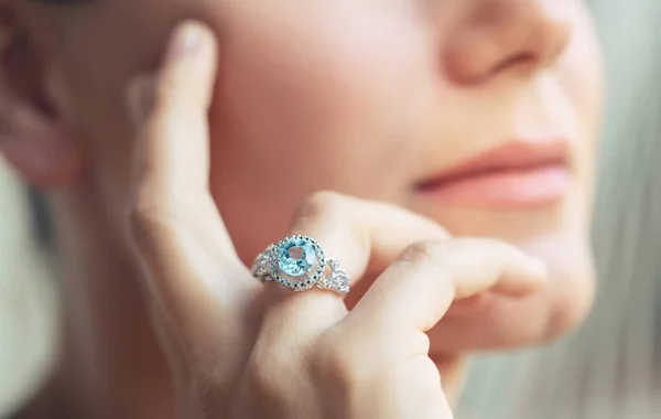
[[(2, 6), (0, 143), (54, 191), (67, 267), (61, 415), (449, 417), (465, 354), (587, 311), (583, 2)], [(250, 278), (292, 233), (342, 268), (289, 239), (285, 287)], [(317, 268), (350, 313), (283, 289)]]

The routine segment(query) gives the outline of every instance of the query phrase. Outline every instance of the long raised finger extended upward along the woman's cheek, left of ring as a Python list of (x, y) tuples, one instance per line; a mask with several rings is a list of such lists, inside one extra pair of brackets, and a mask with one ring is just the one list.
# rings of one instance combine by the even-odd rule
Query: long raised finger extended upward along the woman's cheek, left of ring
[(207, 112), (216, 62), (212, 32), (187, 22), (159, 72), (129, 88), (137, 127), (130, 233), (165, 323), (201, 336), (229, 327), (225, 318), (257, 284), (209, 193)]

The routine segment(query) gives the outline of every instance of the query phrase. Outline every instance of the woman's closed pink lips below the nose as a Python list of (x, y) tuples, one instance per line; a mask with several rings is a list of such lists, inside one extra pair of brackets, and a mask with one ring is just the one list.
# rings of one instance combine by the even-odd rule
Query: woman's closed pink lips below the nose
[(552, 205), (573, 175), (566, 139), (508, 142), (416, 185), (424, 198), (491, 208)]

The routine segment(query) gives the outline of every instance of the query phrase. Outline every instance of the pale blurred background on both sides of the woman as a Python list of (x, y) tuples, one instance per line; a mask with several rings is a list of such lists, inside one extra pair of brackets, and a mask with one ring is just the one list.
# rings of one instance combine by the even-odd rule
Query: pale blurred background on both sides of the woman
[[(595, 310), (546, 348), (478, 357), (460, 419), (661, 418), (661, 2), (590, 4), (609, 86)], [(39, 201), (0, 160), (0, 418), (34, 395), (53, 364), (56, 269), (37, 244), (46, 233)]]

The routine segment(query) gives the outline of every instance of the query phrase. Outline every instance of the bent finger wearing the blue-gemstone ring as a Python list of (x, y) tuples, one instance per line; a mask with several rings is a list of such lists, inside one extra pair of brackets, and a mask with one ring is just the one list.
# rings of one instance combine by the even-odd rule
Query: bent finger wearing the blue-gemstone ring
[[(403, 208), (333, 192), (321, 192), (303, 202), (292, 233), (316, 239), (347, 270), (351, 286), (366, 271), (384, 269), (412, 243), (449, 237), (438, 224)], [(268, 288), (275, 301), (286, 301), (293, 315), (312, 308), (319, 312), (325, 301), (332, 308), (344, 308), (342, 299), (329, 291), (294, 294), (275, 286)], [(359, 293), (353, 290), (349, 296)]]

